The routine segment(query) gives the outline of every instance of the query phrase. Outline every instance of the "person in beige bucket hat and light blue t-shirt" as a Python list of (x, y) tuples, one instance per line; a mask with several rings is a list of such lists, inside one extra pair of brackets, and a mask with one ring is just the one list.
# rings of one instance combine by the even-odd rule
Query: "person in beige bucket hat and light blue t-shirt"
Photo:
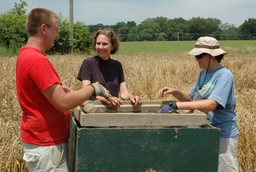
[(197, 109), (207, 114), (207, 123), (221, 129), (218, 172), (237, 172), (239, 130), (235, 113), (234, 78), (232, 73), (220, 64), (227, 52), (220, 48), (218, 40), (205, 36), (198, 38), (195, 48), (188, 54), (195, 56), (202, 70), (188, 92), (176, 88), (161, 88), (160, 97), (172, 94), (180, 102), (162, 107), (159, 113), (172, 113), (177, 109)]

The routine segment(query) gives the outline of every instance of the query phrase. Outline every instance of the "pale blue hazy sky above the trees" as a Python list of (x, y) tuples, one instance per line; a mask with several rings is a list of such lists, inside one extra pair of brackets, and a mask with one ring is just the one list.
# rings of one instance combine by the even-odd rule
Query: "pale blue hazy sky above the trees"
[[(61, 13), (69, 19), (69, 0), (25, 0), (29, 10), (42, 7)], [(19, 0), (0, 0), (0, 13), (8, 12)], [(117, 22), (143, 20), (154, 17), (174, 19), (193, 17), (220, 19), (236, 27), (249, 18), (256, 19), (256, 0), (73, 0), (74, 22), (86, 25), (113, 25)]]

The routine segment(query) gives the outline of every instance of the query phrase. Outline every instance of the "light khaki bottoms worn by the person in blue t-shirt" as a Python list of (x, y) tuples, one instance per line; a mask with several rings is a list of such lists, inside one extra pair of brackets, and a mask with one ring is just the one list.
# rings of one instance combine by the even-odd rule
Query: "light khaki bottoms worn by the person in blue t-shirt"
[(220, 138), (218, 172), (238, 172), (237, 148), (239, 137)]

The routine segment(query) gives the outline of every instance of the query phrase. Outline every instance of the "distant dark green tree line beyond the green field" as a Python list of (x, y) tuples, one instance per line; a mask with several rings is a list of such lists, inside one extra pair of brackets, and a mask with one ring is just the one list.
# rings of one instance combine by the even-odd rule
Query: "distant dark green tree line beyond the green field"
[(183, 41), (197, 40), (200, 36), (212, 36), (218, 40), (255, 40), (256, 19), (245, 20), (236, 27), (234, 24), (222, 24), (220, 19), (193, 17), (168, 19), (166, 17), (148, 18), (136, 22), (118, 22), (112, 26), (103, 24), (90, 25), (93, 33), (100, 27), (111, 27), (115, 30), (122, 42), (133, 41)]

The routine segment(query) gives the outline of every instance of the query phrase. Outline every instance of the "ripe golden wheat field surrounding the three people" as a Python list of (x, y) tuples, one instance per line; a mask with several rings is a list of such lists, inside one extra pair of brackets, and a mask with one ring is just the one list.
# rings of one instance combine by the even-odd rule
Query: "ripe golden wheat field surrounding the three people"
[[(88, 57), (80, 54), (48, 56), (61, 81), (73, 90), (81, 88), (76, 76), (83, 59)], [(189, 91), (200, 72), (195, 58), (188, 54), (115, 54), (111, 58), (122, 63), (129, 91), (143, 100), (175, 100), (171, 95), (159, 98), (158, 90), (170, 86)], [(0, 171), (4, 172), (28, 171), (21, 158), (22, 111), (15, 90), (15, 59), (0, 58)], [(235, 80), (239, 171), (256, 171), (256, 55), (229, 54), (221, 64), (227, 66)]]

